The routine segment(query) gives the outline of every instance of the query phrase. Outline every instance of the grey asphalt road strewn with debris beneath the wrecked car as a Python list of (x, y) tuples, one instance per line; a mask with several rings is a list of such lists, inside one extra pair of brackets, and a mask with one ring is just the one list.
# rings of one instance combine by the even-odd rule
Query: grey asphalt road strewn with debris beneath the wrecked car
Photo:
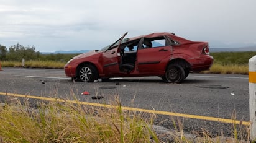
[[(118, 96), (122, 106), (188, 115), (249, 121), (248, 75), (190, 74), (181, 84), (168, 84), (160, 77), (112, 79), (106, 82), (83, 83), (65, 77), (62, 69), (2, 68), (0, 92), (57, 97), (84, 102), (111, 104)], [(90, 95), (81, 95), (82, 92)], [(93, 100), (93, 96), (102, 96)], [(7, 98), (0, 96), (1, 102)], [(176, 118), (175, 118), (176, 119)], [(214, 134), (230, 134), (232, 124), (199, 119), (178, 119), (184, 129), (209, 129)], [(173, 128), (173, 118), (157, 116), (155, 124)]]

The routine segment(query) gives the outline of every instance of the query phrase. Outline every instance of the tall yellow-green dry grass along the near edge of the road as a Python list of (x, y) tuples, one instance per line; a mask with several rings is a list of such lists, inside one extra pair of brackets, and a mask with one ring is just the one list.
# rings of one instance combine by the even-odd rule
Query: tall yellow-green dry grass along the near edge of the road
[[(156, 115), (123, 110), (119, 98), (113, 108), (68, 102), (38, 103), (29, 108), (17, 98), (0, 106), (0, 142), (249, 142), (249, 128), (231, 124), (231, 137), (212, 137), (208, 131), (188, 134), (184, 119), (171, 117), (174, 130), (157, 134)], [(232, 119), (236, 118), (235, 111)], [(163, 121), (164, 122), (164, 121)], [(244, 137), (245, 136), (247, 137)]]

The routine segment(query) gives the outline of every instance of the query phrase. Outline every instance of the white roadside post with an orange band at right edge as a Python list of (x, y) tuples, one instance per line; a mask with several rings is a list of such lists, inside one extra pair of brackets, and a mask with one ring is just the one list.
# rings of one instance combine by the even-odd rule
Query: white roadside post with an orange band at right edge
[(256, 139), (256, 56), (249, 59), (250, 139)]

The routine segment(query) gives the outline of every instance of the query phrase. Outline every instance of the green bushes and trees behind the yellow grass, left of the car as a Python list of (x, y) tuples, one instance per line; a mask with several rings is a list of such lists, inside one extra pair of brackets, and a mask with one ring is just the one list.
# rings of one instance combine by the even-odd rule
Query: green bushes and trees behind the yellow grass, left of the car
[(68, 61), (76, 54), (42, 54), (35, 51), (35, 46), (23, 46), (19, 43), (11, 45), (9, 50), (6, 46), (0, 44), (0, 60), (1, 61), (21, 61), (25, 60), (39, 60), (39, 61)]

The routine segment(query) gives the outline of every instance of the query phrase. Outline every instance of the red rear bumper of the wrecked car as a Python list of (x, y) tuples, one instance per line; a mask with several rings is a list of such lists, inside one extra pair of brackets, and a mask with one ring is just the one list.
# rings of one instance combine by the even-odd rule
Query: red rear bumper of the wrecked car
[(205, 71), (209, 70), (213, 65), (213, 56), (203, 55), (199, 58), (191, 60), (191, 71)]

